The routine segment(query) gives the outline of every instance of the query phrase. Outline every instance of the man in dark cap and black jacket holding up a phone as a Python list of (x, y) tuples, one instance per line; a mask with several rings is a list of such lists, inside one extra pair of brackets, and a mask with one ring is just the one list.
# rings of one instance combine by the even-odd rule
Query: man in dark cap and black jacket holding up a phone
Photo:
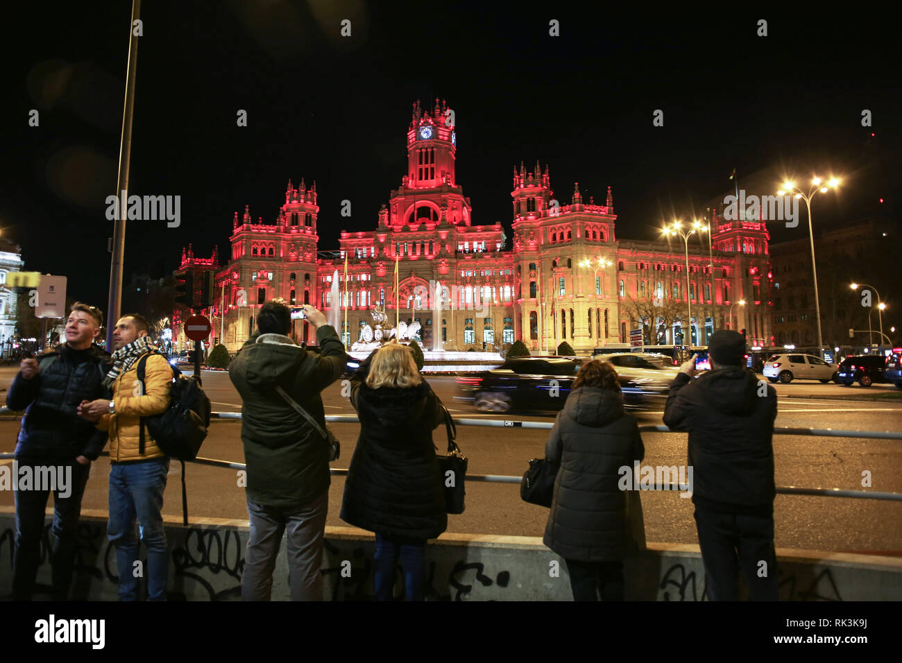
[(712, 370), (680, 368), (664, 409), (671, 430), (689, 431), (698, 545), (711, 601), (735, 601), (739, 571), (753, 601), (776, 601), (774, 420), (777, 391), (743, 367), (745, 337), (723, 330), (708, 345)]

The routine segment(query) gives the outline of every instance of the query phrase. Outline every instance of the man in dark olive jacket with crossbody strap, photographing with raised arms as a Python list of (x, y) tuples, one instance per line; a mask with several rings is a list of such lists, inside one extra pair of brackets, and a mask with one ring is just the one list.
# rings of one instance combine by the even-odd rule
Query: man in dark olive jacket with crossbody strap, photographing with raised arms
[[(322, 601), (319, 573), (329, 496), (329, 443), (320, 435), (326, 419), (319, 392), (345, 372), (347, 355), (333, 327), (304, 305), (317, 328), (320, 354), (289, 336), (290, 309), (270, 301), (257, 314), (257, 333), (229, 365), (241, 395), (241, 438), (247, 465), (247, 513), (251, 535), (244, 554), (241, 596), (269, 601), (272, 571), (288, 530), (291, 599)], [(282, 393), (308, 413), (308, 418)]]

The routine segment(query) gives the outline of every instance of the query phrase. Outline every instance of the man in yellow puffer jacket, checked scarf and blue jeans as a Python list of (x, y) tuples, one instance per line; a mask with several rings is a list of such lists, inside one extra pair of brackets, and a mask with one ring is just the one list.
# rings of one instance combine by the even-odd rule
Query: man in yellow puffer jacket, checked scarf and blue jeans
[(161, 511), (170, 459), (157, 447), (146, 426), (142, 445), (141, 418), (169, 408), (172, 368), (166, 357), (149, 355), (143, 385), (138, 382), (138, 362), (156, 350), (148, 329), (147, 320), (138, 314), (119, 318), (113, 332), (113, 369), (105, 382), (113, 400), (86, 401), (79, 412), (87, 419), (97, 419), (97, 428), (109, 432), (112, 466), (106, 535), (116, 548), (122, 601), (137, 600), (137, 576), (143, 576), (138, 573), (135, 520), (147, 547), (147, 599), (166, 600), (169, 549)]

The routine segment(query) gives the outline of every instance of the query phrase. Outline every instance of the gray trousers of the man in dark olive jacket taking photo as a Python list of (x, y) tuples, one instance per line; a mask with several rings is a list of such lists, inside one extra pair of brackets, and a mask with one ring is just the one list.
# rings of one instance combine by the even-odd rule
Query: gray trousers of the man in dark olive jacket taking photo
[(247, 502), (251, 536), (244, 553), (241, 576), (243, 601), (269, 601), (272, 572), (282, 534), (288, 532), (288, 567), (292, 601), (322, 601), (323, 533), (326, 529), (328, 490), (304, 507), (272, 507)]

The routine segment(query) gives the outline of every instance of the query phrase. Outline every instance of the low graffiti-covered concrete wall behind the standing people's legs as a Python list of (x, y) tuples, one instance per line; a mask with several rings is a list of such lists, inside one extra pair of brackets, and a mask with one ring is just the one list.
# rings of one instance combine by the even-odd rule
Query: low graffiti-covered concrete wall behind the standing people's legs
[[(186, 528), (177, 518), (165, 520), (171, 551), (170, 600), (240, 600), (247, 521), (198, 519)], [(50, 585), (51, 577), (50, 524), (49, 512), (38, 571), (38, 583), (45, 586)], [(0, 596), (8, 596), (11, 591), (14, 531), (14, 510), (0, 509)], [(327, 527), (321, 572), (326, 600), (371, 600), (373, 535), (362, 529)], [(778, 572), (780, 599), (784, 601), (902, 600), (902, 559), (896, 557), (779, 548)], [(117, 573), (115, 549), (106, 539), (106, 511), (83, 511), (72, 597), (115, 601)], [(707, 598), (698, 546), (649, 543), (640, 557), (626, 561), (625, 573), (630, 600)], [(533, 537), (443, 535), (428, 546), (427, 574), (428, 600), (573, 599), (564, 560)], [(396, 591), (400, 592), (400, 586)], [(283, 541), (272, 599), (289, 597)]]

